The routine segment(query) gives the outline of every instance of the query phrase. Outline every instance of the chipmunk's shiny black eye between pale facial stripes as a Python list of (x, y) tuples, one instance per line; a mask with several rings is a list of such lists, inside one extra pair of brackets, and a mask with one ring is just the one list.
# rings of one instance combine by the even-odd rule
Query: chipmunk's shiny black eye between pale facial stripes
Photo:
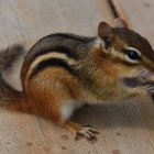
[(140, 61), (141, 59), (140, 54), (134, 50), (125, 50), (124, 52), (128, 55), (128, 57), (132, 61)]

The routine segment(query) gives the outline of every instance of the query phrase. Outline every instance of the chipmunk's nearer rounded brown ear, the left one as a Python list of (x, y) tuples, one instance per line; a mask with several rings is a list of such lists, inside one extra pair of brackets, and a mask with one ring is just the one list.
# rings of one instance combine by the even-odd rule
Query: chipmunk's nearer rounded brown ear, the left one
[(98, 25), (98, 35), (105, 41), (105, 48), (108, 50), (111, 46), (113, 37), (111, 26), (106, 22), (100, 22)]

